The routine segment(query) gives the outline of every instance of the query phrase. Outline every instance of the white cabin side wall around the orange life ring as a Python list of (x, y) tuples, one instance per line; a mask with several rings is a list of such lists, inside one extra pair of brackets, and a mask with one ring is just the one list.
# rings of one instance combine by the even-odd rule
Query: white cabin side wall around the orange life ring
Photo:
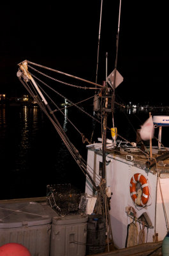
[[(107, 166), (107, 186), (110, 186), (112, 190), (112, 198), (110, 200), (111, 210), (111, 224), (114, 243), (118, 248), (124, 248), (126, 244), (127, 227), (128, 224), (133, 221), (127, 216), (125, 212), (125, 207), (132, 206), (137, 212), (137, 217), (139, 217), (143, 212), (147, 212), (149, 218), (152, 221), (152, 225), (155, 223), (155, 202), (156, 202), (156, 175), (145, 173), (141, 168), (133, 166), (133, 162), (126, 161), (125, 159), (116, 159), (107, 157), (107, 161), (111, 159), (111, 164)], [(133, 204), (129, 192), (129, 184), (131, 177), (135, 173), (142, 173), (146, 179), (148, 179), (150, 198), (148, 202), (148, 207), (143, 209), (136, 209)], [(155, 186), (154, 186), (155, 185)], [(146, 209), (147, 208), (147, 209)], [(140, 225), (137, 223), (138, 232), (140, 231)], [(149, 228), (147, 236), (147, 228), (145, 228), (145, 237), (147, 237), (147, 242), (153, 241), (154, 228)]]

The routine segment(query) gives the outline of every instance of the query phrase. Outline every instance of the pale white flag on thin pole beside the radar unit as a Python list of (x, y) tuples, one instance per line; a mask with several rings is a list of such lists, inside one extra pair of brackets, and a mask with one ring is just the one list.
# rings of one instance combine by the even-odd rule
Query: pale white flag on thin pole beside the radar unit
[(140, 137), (142, 140), (150, 140), (154, 136), (154, 124), (152, 116), (150, 116), (145, 123), (141, 126)]

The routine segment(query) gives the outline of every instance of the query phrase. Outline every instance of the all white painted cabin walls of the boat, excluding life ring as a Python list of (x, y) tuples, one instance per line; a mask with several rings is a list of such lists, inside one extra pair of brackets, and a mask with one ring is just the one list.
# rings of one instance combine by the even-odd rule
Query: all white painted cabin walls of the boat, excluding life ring
[[(102, 162), (101, 154), (98, 152), (94, 152), (94, 150), (88, 150), (87, 156), (87, 168), (89, 168), (90, 172), (92, 169), (95, 172), (95, 175), (99, 175), (99, 161)], [(107, 186), (110, 186), (111, 191), (113, 193), (112, 198), (110, 200), (110, 218), (113, 232), (114, 243), (118, 248), (124, 248), (126, 244), (126, 236), (127, 236), (127, 228), (128, 224), (133, 221), (131, 220), (125, 211), (125, 207), (132, 206), (134, 207), (137, 218), (143, 213), (147, 212), (149, 218), (151, 219), (152, 226), (155, 226), (155, 211), (156, 211), (156, 182), (157, 176), (152, 173), (147, 173), (142, 168), (138, 168), (134, 166), (133, 161), (127, 161), (126, 159), (122, 159), (119, 156), (108, 155), (107, 161), (110, 161), (106, 166), (107, 173)], [(133, 200), (131, 199), (129, 192), (129, 184), (131, 177), (135, 173), (142, 173), (147, 179), (149, 184), (149, 202), (147, 207), (140, 208), (135, 207)], [(96, 175), (96, 177), (97, 177)], [(93, 174), (91, 175), (93, 177)], [(101, 178), (99, 176), (99, 178)], [(169, 195), (169, 179), (163, 179), (165, 181), (161, 182), (163, 191), (167, 191), (165, 193), (165, 200), (167, 200), (167, 195)], [(168, 182), (166, 182), (168, 180)], [(99, 179), (96, 179), (99, 182)], [(166, 188), (167, 187), (167, 188)], [(85, 193), (92, 195), (92, 185), (91, 182), (87, 179)], [(169, 216), (169, 202), (167, 201), (167, 212)], [(163, 239), (166, 234), (165, 231), (165, 223), (163, 217), (163, 206), (161, 205), (161, 201), (158, 193), (158, 205), (157, 205), (158, 213), (157, 213), (157, 223), (156, 223), (156, 232), (159, 234), (159, 240)], [(161, 211), (162, 210), (162, 211)], [(161, 219), (161, 221), (159, 221)], [(138, 232), (140, 232), (140, 225), (137, 223)], [(154, 228), (149, 228), (147, 234), (147, 228), (145, 227), (145, 239), (148, 243), (153, 241), (154, 236)], [(162, 238), (161, 238), (162, 237)], [(145, 242), (146, 242), (145, 241)]]

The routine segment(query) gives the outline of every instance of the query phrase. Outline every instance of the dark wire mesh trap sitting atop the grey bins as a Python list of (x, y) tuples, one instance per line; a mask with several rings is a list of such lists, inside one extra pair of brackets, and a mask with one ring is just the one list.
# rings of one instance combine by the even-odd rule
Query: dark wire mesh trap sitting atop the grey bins
[(86, 196), (71, 184), (54, 184), (47, 186), (47, 203), (59, 215), (85, 214)]

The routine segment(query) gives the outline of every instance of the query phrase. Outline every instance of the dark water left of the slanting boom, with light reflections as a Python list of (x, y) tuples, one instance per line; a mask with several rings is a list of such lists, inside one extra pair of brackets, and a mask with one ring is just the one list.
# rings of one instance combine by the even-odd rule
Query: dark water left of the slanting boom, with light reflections
[(45, 196), (48, 184), (84, 190), (84, 174), (40, 108), (1, 106), (0, 143), (1, 199)]

